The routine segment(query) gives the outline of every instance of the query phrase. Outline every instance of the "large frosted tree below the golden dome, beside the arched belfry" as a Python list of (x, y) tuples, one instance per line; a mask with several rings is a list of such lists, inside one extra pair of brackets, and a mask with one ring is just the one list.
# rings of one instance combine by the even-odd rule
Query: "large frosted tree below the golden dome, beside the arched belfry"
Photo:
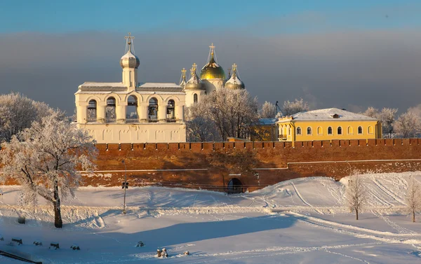
[(258, 99), (246, 90), (218, 89), (190, 107), (188, 118), (198, 117), (210, 120), (224, 141), (227, 137), (245, 138), (250, 125), (258, 123)]

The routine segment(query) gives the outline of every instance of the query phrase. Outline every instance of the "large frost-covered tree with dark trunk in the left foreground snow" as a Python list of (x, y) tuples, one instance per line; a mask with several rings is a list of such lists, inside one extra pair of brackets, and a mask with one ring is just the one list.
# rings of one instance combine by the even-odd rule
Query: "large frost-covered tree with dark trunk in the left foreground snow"
[(81, 183), (79, 170), (94, 168), (97, 155), (93, 140), (62, 113), (54, 112), (1, 144), (0, 179), (13, 179), (22, 186), (22, 199), (36, 204), (38, 195), (54, 207), (56, 228), (62, 228), (60, 197), (74, 195)]

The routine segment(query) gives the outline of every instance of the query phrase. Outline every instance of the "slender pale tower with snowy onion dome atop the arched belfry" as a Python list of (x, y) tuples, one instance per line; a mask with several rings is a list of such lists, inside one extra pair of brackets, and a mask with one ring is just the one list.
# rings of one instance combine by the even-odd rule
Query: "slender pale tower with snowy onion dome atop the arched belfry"
[(123, 68), (123, 83), (129, 88), (129, 90), (135, 90), (136, 84), (138, 83), (138, 67), (140, 64), (139, 58), (135, 55), (135, 48), (131, 33), (128, 32), (126, 39), (126, 54), (120, 59), (120, 66)]

